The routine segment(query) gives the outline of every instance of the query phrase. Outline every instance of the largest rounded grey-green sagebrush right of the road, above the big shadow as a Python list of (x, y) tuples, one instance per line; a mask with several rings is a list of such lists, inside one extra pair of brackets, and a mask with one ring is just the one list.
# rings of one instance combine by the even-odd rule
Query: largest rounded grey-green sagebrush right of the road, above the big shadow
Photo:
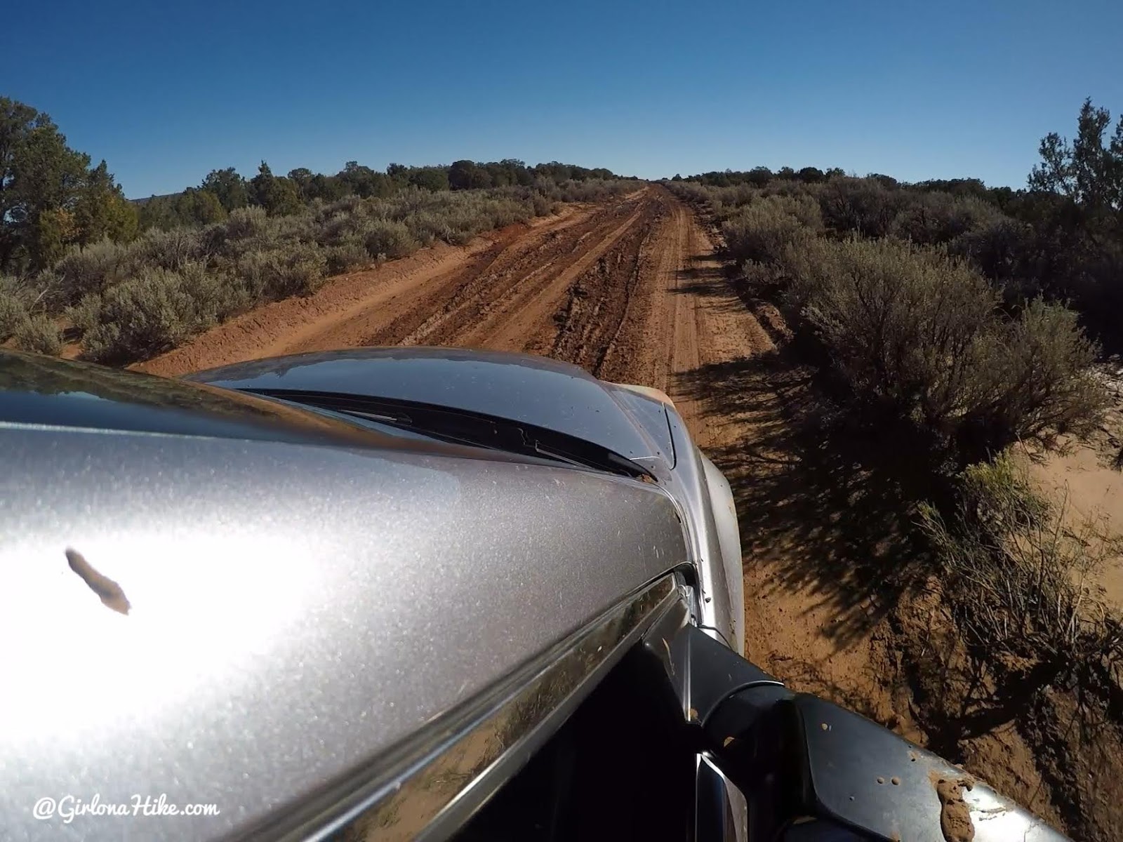
[(1007, 320), (976, 272), (898, 240), (791, 245), (783, 262), (852, 404), (923, 430), (953, 467), (1095, 423), (1095, 348), (1065, 308)]

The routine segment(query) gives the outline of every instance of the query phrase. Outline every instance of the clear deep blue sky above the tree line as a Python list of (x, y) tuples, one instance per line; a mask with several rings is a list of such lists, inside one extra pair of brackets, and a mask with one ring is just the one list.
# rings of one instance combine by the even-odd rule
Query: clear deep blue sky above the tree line
[(1022, 186), (1085, 97), (1123, 110), (1123, 2), (40, 0), (0, 95), (129, 196), (263, 158), (757, 165)]

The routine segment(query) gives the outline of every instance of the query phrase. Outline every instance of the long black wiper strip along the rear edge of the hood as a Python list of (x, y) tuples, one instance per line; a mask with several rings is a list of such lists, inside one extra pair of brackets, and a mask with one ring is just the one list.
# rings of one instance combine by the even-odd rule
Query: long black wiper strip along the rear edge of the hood
[(641, 465), (592, 441), (482, 412), (439, 404), (372, 397), (340, 392), (287, 388), (244, 390), (308, 406), (343, 412), (392, 427), (421, 432), (445, 441), (506, 452), (541, 456), (581, 467), (609, 470), (630, 477), (654, 478)]

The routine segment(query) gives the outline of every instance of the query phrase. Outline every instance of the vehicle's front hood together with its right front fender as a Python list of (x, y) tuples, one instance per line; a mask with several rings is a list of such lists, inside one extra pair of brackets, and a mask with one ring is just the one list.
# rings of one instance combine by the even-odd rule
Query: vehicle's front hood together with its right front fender
[(212, 368), (186, 379), (246, 392), (330, 392), (453, 406), (566, 433), (627, 457), (678, 503), (688, 555), (706, 597), (701, 620), (727, 646), (743, 651), (733, 496), (661, 392), (606, 383), (545, 357), (424, 347), (276, 357)]

